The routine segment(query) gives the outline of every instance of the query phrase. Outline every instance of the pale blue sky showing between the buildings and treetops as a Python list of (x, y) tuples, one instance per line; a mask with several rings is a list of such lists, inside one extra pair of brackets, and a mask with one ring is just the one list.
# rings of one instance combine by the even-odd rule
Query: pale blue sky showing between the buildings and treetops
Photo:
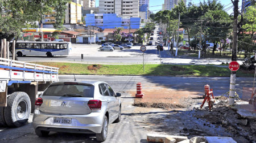
[[(98, 1), (96, 0), (96, 6), (98, 6)], [(153, 11), (154, 13), (160, 11), (162, 9), (162, 4), (164, 4), (164, 0), (149, 0), (150, 1), (150, 11)], [(187, 4), (189, 2), (192, 2), (193, 4), (198, 4), (201, 2), (204, 2), (204, 0), (187, 0)], [(206, 0), (208, 1), (208, 0)], [(226, 8), (229, 8), (230, 6), (232, 6), (232, 2), (231, 0), (219, 0), (218, 2), (220, 2), (222, 5), (224, 5), (224, 10)], [(241, 7), (242, 5), (242, 0), (239, 1), (238, 3), (238, 7)], [(226, 9), (226, 11), (228, 12), (228, 14), (232, 14), (233, 12), (233, 7), (230, 7), (229, 9)]]

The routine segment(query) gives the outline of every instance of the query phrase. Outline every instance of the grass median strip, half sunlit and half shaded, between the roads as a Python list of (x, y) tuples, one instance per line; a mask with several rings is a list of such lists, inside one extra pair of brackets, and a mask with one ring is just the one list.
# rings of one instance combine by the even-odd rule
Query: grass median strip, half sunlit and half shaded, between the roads
[[(174, 64), (143, 64), (109, 65), (109, 64), (80, 64), (34, 62), (46, 66), (59, 67), (60, 74), (84, 75), (169, 75), (169, 76), (230, 76), (229, 68), (201, 65)], [(254, 71), (237, 71), (239, 77), (253, 77)]]

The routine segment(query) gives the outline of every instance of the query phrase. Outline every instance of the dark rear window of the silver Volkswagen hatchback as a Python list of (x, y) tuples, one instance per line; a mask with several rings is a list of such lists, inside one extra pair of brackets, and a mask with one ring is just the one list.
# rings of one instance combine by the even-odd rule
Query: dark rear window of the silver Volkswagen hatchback
[(64, 96), (67, 94), (82, 95), (82, 97), (93, 97), (94, 86), (83, 84), (57, 84), (50, 85), (43, 96)]

